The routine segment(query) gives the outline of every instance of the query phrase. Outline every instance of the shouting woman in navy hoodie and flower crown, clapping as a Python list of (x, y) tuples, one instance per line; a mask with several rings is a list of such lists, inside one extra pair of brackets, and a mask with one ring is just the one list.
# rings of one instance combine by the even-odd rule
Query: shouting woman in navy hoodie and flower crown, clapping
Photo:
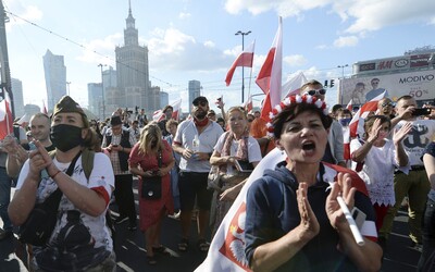
[[(287, 160), (248, 188), (245, 252), (250, 269), (378, 271), (382, 249), (374, 242), (374, 211), (364, 184), (348, 173), (326, 178), (331, 164), (320, 162), (332, 124), (325, 102), (291, 96), (274, 108), (271, 119), (269, 133)], [(352, 236), (341, 198), (366, 215), (360, 227), (363, 245)]]

